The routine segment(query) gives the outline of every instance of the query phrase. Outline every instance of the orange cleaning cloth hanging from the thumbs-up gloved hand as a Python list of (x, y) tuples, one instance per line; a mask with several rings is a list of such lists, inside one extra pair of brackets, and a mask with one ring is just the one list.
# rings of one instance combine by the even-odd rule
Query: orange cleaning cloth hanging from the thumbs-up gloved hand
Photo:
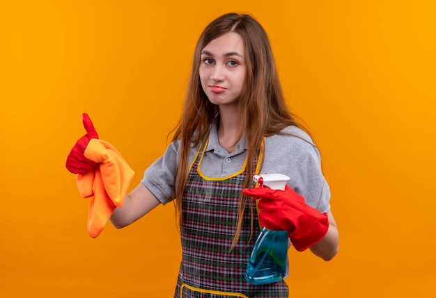
[(91, 198), (88, 233), (96, 238), (115, 208), (123, 206), (134, 171), (115, 147), (104, 140), (91, 139), (84, 156), (98, 164), (86, 174), (77, 174), (81, 197)]

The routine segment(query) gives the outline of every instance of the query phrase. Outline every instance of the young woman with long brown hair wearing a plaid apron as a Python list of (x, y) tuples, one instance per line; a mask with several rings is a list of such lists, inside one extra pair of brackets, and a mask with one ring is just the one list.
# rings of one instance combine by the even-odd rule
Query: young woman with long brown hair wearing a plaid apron
[[(259, 173), (286, 174), (286, 191), (256, 192)], [(263, 197), (260, 213), (251, 197)], [(205, 28), (173, 142), (111, 222), (122, 228), (174, 199), (182, 240), (174, 297), (288, 297), (283, 280), (244, 279), (259, 222), (325, 260), (338, 250), (318, 149), (288, 111), (267, 34), (249, 15)]]

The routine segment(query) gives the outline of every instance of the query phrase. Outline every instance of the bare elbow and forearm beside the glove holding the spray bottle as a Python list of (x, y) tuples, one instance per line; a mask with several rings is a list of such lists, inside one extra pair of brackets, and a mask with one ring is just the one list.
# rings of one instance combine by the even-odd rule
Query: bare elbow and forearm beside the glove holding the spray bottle
[(336, 221), (332, 215), (332, 212), (327, 213), (329, 217), (329, 229), (320, 242), (313, 245), (310, 249), (316, 256), (319, 256), (323, 260), (332, 260), (334, 256), (338, 253), (339, 245), (339, 233), (338, 227), (336, 226)]

